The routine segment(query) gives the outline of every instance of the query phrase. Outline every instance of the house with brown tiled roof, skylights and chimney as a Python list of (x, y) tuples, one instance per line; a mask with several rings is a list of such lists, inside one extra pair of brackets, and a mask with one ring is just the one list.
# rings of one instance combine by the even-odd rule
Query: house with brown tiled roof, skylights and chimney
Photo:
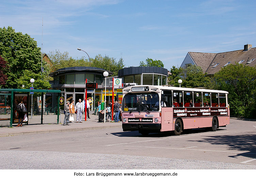
[(199, 53), (188, 52), (180, 67), (188, 67), (189, 65), (200, 66), (203, 72), (213, 75), (219, 72), (222, 67), (228, 64), (243, 64), (256, 66), (256, 48), (252, 48), (251, 44), (244, 45), (243, 50), (236, 50), (223, 53)]

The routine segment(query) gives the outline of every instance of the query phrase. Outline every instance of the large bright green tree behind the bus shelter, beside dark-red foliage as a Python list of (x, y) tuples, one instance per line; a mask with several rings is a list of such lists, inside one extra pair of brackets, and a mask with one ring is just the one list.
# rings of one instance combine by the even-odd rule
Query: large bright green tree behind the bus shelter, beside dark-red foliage
[(28, 34), (15, 32), (12, 27), (0, 28), (0, 55), (10, 69), (6, 73), (6, 88), (17, 88), (18, 79), (25, 70), (35, 74), (41, 72), (41, 52), (36, 41)]

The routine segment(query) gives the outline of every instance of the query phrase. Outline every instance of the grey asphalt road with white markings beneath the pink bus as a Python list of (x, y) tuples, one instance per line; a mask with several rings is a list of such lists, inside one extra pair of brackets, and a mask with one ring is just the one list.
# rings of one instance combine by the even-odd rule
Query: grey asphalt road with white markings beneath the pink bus
[(256, 169), (256, 122), (179, 136), (122, 128), (0, 138), (2, 169)]

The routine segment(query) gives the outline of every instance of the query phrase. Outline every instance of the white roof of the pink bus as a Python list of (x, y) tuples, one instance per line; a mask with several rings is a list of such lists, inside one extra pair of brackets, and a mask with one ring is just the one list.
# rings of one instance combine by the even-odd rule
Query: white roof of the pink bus
[[(148, 87), (148, 91), (143, 91), (137, 89), (137, 91), (132, 91), (132, 88), (143, 88)], [(147, 89), (146, 89), (147, 90)], [(173, 86), (152, 86), (152, 85), (137, 85), (137, 86), (130, 86), (123, 89), (123, 94), (126, 93), (136, 93), (136, 92), (161, 92), (161, 90), (180, 90), (180, 91), (194, 91), (194, 92), (214, 92), (214, 93), (224, 93), (228, 94), (227, 91), (222, 90), (211, 90), (211, 89), (197, 89), (197, 88), (185, 88), (185, 87), (173, 87)]]

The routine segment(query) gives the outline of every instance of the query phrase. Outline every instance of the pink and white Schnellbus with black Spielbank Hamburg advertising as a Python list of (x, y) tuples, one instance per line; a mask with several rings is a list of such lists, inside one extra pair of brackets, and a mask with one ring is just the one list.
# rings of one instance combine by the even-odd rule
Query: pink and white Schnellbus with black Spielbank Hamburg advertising
[(228, 92), (205, 88), (137, 85), (123, 89), (123, 131), (142, 135), (229, 124)]

